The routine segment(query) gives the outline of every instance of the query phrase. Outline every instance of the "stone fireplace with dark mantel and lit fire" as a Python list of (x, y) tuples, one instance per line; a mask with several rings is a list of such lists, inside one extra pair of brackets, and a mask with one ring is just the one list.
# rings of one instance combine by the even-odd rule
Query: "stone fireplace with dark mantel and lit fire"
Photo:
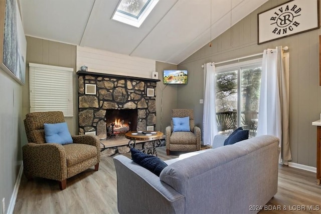
[[(120, 132), (126, 131), (121, 127), (124, 124), (132, 131), (155, 129), (154, 92), (159, 80), (86, 71), (77, 74), (79, 134), (95, 132), (99, 139), (106, 139), (115, 120), (120, 124), (114, 124), (114, 130)], [(86, 84), (93, 87), (89, 92)], [(147, 96), (150, 89), (153, 93)]]

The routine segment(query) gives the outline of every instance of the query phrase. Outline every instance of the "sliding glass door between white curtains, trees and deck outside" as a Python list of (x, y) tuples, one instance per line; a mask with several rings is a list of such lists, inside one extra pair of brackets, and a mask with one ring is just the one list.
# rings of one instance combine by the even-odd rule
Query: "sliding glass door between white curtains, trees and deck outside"
[(256, 136), (262, 59), (216, 68), (218, 131), (228, 134), (237, 127)]

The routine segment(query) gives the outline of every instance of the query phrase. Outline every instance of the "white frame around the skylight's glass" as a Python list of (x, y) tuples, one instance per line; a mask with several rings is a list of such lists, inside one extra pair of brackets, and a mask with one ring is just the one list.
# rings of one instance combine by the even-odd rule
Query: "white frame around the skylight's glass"
[(134, 16), (124, 11), (118, 10), (118, 7), (121, 3), (121, 1), (119, 1), (112, 19), (139, 28), (145, 21), (147, 16), (150, 14), (150, 12), (153, 10), (153, 8), (156, 6), (158, 1), (159, 0), (149, 0), (148, 3), (146, 3), (146, 5), (141, 9), (138, 16)]

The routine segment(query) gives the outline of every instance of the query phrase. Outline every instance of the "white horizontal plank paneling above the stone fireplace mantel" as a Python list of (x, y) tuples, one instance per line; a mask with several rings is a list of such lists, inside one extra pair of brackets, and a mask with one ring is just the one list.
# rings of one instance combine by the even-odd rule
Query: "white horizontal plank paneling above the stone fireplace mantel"
[(86, 65), (89, 72), (151, 78), (155, 63), (155, 60), (77, 46), (77, 70)]

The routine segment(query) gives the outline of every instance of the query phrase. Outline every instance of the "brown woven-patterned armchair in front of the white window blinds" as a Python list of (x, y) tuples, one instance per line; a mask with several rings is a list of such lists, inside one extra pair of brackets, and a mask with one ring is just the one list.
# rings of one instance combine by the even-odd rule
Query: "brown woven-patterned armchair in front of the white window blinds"
[(67, 178), (93, 165), (95, 171), (98, 171), (100, 142), (96, 136), (72, 136), (73, 143), (66, 145), (46, 143), (44, 123), (65, 122), (62, 112), (28, 113), (24, 122), (29, 143), (22, 150), (24, 174), (28, 179), (43, 177), (57, 180), (63, 190)]

